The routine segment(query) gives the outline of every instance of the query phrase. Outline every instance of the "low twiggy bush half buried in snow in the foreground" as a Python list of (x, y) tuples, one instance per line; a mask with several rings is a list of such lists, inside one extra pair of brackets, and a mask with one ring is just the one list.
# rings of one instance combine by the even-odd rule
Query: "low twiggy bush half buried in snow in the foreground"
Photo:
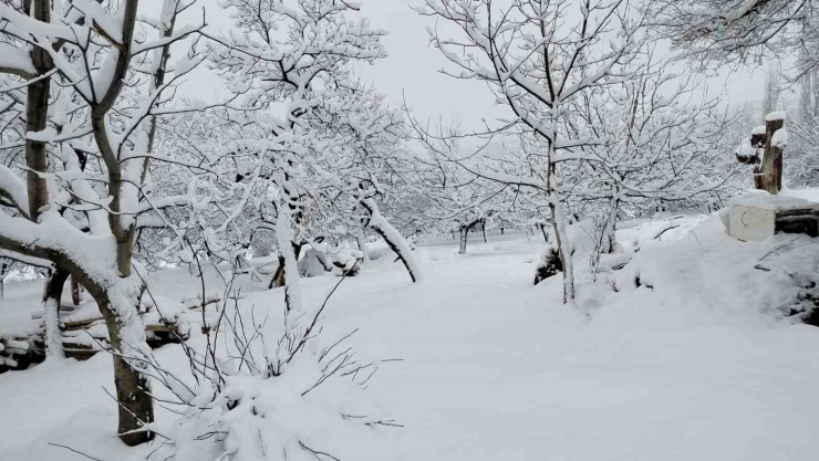
[[(224, 354), (210, 333), (204, 354), (186, 349), (196, 386), (157, 366), (155, 375), (184, 411), (149, 459), (356, 459), (373, 428), (400, 427), (380, 418), (365, 392), (379, 364), (354, 357), (346, 340), (355, 332), (320, 346), (319, 316), (331, 295), (294, 321), (294, 313), (286, 314), (291, 329), (278, 342), (270, 340), (267, 321), (242, 318), (237, 302), (214, 333), (228, 338)], [(299, 318), (310, 324), (299, 328)]]

